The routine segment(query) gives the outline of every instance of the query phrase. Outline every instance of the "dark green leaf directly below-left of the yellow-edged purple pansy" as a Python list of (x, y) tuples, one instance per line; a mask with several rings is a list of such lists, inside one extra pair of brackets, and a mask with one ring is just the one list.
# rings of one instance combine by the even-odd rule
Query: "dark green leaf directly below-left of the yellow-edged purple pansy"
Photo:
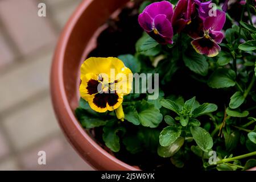
[(188, 54), (183, 55), (185, 65), (192, 71), (199, 75), (207, 75), (209, 64), (203, 55), (195, 51), (188, 51)]

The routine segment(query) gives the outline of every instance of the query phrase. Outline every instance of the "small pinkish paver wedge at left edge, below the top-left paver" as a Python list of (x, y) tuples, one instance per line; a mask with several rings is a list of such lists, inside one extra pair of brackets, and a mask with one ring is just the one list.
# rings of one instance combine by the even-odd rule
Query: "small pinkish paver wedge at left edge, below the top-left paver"
[(14, 53), (11, 51), (0, 29), (0, 69), (13, 62)]

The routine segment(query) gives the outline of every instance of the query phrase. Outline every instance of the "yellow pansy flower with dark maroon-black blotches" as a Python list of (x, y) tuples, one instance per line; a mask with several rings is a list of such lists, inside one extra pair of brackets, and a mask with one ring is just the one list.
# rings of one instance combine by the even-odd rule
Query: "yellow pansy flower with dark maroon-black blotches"
[(81, 65), (80, 95), (99, 112), (113, 111), (123, 121), (123, 96), (132, 88), (133, 74), (115, 57), (90, 57)]

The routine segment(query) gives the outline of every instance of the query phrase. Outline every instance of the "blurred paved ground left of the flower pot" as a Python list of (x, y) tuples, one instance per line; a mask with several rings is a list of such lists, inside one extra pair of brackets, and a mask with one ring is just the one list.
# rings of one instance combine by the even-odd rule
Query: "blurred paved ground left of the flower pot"
[(0, 0), (0, 170), (92, 170), (65, 139), (49, 96), (57, 39), (80, 2)]

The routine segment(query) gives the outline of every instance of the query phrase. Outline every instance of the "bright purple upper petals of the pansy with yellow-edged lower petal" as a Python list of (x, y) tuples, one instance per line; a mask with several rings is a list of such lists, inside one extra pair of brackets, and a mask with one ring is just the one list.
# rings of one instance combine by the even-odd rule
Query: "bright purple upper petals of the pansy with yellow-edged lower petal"
[(226, 21), (226, 14), (223, 11), (216, 10), (216, 16), (209, 16), (204, 20), (206, 30), (220, 31)]

